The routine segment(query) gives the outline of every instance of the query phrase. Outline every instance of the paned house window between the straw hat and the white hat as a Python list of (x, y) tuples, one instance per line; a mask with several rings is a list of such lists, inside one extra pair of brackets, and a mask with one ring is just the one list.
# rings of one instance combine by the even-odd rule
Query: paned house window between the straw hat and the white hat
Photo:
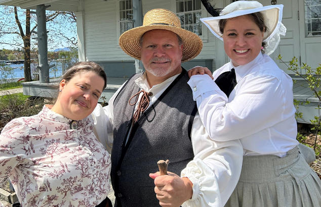
[(181, 27), (197, 35), (202, 35), (202, 3), (200, 0), (176, 0), (176, 15)]

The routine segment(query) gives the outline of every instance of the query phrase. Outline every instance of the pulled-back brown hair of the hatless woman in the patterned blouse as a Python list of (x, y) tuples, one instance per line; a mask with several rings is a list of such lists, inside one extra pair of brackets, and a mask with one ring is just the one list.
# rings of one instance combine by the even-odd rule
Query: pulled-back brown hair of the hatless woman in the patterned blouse
[(94, 73), (96, 73), (97, 75), (99, 75), (100, 77), (102, 77), (105, 81), (104, 83), (104, 88), (106, 87), (107, 84), (107, 77), (106, 77), (106, 73), (104, 71), (104, 69), (98, 65), (97, 63), (88, 61), (88, 62), (78, 62), (75, 63), (73, 66), (71, 66), (66, 73), (61, 77), (61, 79), (65, 79), (66, 83), (69, 82), (71, 80), (71, 78), (73, 78), (75, 75), (79, 74), (79, 73), (86, 73), (92, 71)]

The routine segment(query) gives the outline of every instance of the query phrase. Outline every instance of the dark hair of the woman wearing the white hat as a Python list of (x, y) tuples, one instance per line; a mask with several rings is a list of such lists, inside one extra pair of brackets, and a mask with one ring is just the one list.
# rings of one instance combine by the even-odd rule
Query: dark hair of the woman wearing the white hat
[[(252, 19), (255, 24), (259, 27), (261, 32), (264, 33), (269, 33), (267, 26), (265, 25), (265, 21), (264, 21), (264, 17), (262, 15), (262, 13), (260, 12), (256, 12), (256, 13), (252, 13), (252, 14), (247, 14), (246, 16), (248, 16), (250, 19)], [(221, 19), (218, 23), (218, 26), (220, 28), (220, 32), (223, 34), (224, 32), (224, 28), (226, 25), (228, 19)], [(265, 47), (267, 46), (267, 43), (265, 41), (262, 41), (262, 47), (265, 49)], [(262, 53), (264, 53), (264, 50), (261, 49)]]

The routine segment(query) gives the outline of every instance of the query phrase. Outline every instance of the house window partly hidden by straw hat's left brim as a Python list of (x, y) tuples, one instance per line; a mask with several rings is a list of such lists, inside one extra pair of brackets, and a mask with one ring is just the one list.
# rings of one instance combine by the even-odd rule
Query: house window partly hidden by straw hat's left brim
[(119, 36), (134, 27), (132, 0), (119, 1)]

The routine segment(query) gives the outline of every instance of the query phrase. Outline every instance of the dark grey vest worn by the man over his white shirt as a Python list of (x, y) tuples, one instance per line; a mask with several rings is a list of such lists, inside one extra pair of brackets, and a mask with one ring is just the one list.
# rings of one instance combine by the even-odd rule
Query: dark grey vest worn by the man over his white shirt
[(115, 206), (160, 206), (149, 173), (158, 171), (157, 161), (170, 160), (168, 171), (180, 176), (194, 157), (190, 140), (197, 112), (186, 71), (172, 82), (153, 105), (134, 124), (125, 145), (135, 106), (128, 101), (140, 88), (135, 74), (114, 100), (111, 181)]

